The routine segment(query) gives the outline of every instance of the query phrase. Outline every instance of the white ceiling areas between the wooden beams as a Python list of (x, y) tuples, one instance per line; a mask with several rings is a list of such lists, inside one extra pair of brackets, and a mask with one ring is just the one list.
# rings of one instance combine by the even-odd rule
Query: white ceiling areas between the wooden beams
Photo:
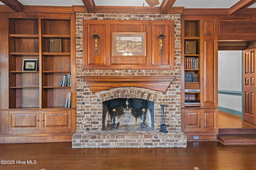
[[(82, 0), (18, 0), (23, 5), (72, 6), (84, 5)], [(159, 0), (160, 4), (163, 0)], [(184, 8), (230, 8), (239, 0), (176, 0), (173, 6)], [(148, 6), (144, 0), (94, 0), (96, 6)], [(0, 5), (4, 5), (0, 2)], [(158, 5), (160, 6), (160, 5)], [(256, 8), (253, 4), (249, 8)]]

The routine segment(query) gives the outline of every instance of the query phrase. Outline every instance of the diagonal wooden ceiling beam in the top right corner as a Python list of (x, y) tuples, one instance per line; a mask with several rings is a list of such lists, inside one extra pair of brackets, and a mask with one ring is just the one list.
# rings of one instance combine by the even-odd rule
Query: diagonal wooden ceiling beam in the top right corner
[(229, 8), (229, 15), (236, 15), (242, 10), (254, 4), (256, 0), (240, 0)]

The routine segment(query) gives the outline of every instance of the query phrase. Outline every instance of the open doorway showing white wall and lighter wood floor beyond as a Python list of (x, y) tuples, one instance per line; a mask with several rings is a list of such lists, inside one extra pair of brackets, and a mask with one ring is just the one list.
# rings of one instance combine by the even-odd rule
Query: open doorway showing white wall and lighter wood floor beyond
[(243, 120), (242, 64), (242, 50), (218, 51), (219, 129), (256, 128)]

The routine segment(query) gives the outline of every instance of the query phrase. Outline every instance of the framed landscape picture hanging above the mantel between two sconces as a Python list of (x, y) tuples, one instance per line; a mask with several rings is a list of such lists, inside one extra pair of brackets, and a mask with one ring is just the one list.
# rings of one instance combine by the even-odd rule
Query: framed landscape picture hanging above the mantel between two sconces
[(112, 56), (146, 57), (146, 32), (112, 32)]

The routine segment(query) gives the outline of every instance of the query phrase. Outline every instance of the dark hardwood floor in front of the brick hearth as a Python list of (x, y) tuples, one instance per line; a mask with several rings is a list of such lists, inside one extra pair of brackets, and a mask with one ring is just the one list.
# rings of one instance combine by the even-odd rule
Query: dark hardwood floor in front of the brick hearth
[(255, 145), (222, 145), (216, 141), (188, 142), (187, 148), (152, 149), (72, 149), (70, 142), (0, 144), (0, 160), (9, 163), (1, 162), (0, 169), (253, 170), (255, 156)]

